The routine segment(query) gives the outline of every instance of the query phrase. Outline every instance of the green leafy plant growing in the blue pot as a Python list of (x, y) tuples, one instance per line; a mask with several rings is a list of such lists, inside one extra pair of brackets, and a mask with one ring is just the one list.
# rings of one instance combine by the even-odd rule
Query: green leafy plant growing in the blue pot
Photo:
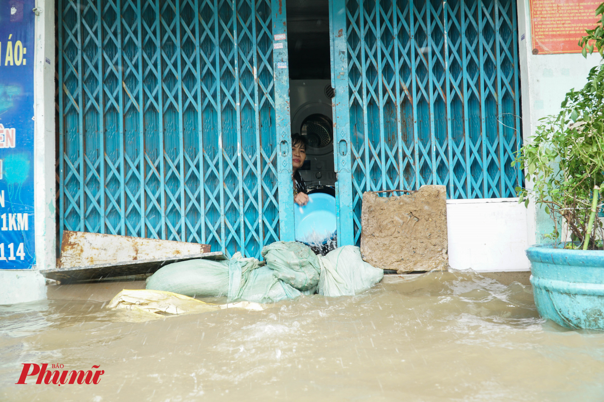
[[(596, 15), (602, 13), (604, 3), (596, 10)], [(604, 57), (603, 25), (604, 15), (580, 40), (584, 56), (596, 48)], [(582, 89), (566, 94), (557, 115), (540, 120), (535, 136), (519, 150), (512, 165), (519, 164), (525, 172), (527, 186), (516, 187), (520, 202), (528, 206), (535, 200), (553, 219), (555, 229), (546, 237), (570, 237), (575, 243), (567, 247), (594, 250), (602, 249), (602, 241), (597, 239), (604, 234), (596, 217), (603, 205), (598, 190), (604, 190), (602, 65), (591, 69), (587, 80)]]

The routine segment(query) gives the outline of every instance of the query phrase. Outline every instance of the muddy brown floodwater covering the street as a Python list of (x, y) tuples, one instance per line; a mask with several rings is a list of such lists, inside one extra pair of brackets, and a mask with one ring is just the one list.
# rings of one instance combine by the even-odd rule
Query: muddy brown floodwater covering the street
[[(0, 306), (0, 400), (604, 400), (604, 333), (540, 319), (517, 282), (428, 273), (267, 307), (124, 322), (100, 302)], [(21, 363), (104, 374), (14, 385)]]

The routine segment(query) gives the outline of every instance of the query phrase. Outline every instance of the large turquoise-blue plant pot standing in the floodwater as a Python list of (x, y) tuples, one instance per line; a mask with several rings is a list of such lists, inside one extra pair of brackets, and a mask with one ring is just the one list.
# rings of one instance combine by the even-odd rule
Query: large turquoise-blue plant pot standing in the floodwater
[(536, 244), (526, 251), (539, 314), (567, 328), (604, 330), (604, 251), (562, 247)]

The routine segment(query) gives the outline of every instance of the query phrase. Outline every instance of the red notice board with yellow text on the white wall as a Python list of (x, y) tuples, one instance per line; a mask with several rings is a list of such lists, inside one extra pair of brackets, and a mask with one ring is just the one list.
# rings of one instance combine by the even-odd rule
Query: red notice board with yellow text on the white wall
[(581, 53), (586, 29), (596, 27), (602, 0), (530, 0), (533, 54)]

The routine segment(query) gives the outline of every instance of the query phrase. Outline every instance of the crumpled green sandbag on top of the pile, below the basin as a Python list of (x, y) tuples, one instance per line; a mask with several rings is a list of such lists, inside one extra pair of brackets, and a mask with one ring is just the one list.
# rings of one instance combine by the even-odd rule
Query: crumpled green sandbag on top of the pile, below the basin
[(312, 291), (317, 286), (321, 264), (306, 244), (275, 241), (263, 247), (262, 256), (275, 276), (295, 289)]

